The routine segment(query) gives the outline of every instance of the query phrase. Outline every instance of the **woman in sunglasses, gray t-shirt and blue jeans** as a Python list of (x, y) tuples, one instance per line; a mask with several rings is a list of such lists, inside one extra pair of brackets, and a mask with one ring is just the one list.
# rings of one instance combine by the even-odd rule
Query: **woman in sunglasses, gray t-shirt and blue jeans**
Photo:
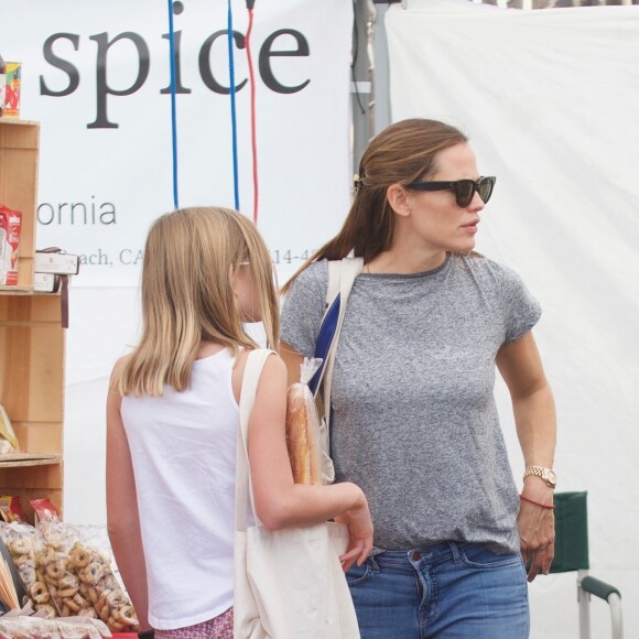
[[(494, 177), (466, 136), (411, 119), (362, 155), (342, 230), (284, 288), (294, 380), (315, 350), (327, 261), (364, 258), (336, 351), (332, 456), (367, 495), (375, 551), (347, 574), (361, 636), (528, 637), (526, 583), (553, 557), (555, 412), (510, 269), (473, 251)], [(526, 478), (509, 466), (495, 368), (512, 398)]]

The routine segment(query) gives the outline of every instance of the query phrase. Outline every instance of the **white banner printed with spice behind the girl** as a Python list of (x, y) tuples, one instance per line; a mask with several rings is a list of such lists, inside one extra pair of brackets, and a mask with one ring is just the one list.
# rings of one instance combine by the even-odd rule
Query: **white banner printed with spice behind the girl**
[[(227, 2), (173, 7), (178, 204), (235, 207)], [(0, 0), (0, 12), (2, 55), (23, 64), (21, 117), (41, 122), (39, 247), (79, 253), (77, 285), (137, 284), (149, 224), (174, 202), (167, 3)], [(258, 225), (281, 277), (348, 206), (351, 12), (256, 2)], [(231, 22), (239, 208), (252, 217), (245, 2)]]

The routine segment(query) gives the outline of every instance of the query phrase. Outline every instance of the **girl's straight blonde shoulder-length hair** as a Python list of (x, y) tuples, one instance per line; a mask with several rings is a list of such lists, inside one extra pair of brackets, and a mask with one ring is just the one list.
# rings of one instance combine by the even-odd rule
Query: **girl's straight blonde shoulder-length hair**
[(113, 376), (121, 396), (162, 396), (188, 388), (203, 340), (257, 344), (242, 325), (231, 273), (250, 269), (267, 342), (278, 349), (279, 301), (271, 257), (254, 225), (236, 210), (182, 208), (152, 225), (142, 267), (142, 337)]

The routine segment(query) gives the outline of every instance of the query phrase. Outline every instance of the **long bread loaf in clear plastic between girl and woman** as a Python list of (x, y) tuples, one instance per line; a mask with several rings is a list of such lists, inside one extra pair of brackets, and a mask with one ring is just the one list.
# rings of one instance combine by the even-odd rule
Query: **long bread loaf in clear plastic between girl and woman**
[(320, 418), (308, 382), (322, 359), (304, 358), (300, 381), (286, 393), (286, 446), (295, 484), (322, 484)]

